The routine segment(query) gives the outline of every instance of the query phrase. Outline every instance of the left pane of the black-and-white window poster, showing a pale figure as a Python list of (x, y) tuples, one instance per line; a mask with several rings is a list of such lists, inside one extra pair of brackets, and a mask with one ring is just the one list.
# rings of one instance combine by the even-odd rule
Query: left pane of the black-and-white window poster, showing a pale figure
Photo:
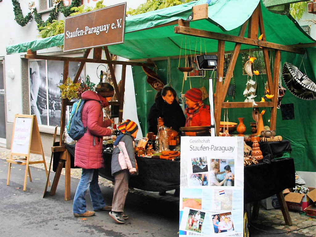
[(45, 60), (31, 61), (30, 92), (31, 114), (35, 114), (39, 125), (47, 124), (47, 85), (46, 85), (46, 62)]

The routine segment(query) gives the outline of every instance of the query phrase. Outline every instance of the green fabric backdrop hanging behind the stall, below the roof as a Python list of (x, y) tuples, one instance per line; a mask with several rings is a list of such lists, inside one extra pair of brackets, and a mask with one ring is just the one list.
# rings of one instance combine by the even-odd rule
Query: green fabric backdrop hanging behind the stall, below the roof
[[(300, 66), (302, 57), (304, 58), (304, 65), (306, 68), (307, 75), (315, 81), (314, 71), (315, 63), (313, 67), (310, 64), (310, 58), (315, 60), (316, 51), (308, 50), (307, 55), (298, 55), (294, 53), (281, 53), (282, 65), (284, 62), (289, 62), (294, 65)], [(182, 63), (182, 62), (181, 62)], [(167, 83), (167, 60), (156, 61), (158, 76), (164, 83)], [(183, 73), (178, 69), (178, 60), (171, 60), (171, 78), (172, 86), (176, 90), (178, 97), (182, 88), (182, 78)], [(273, 69), (271, 67), (273, 72)], [(301, 70), (304, 72), (303, 64), (301, 65)], [(136, 93), (136, 103), (137, 103), (137, 114), (140, 121), (140, 126), (142, 127), (143, 135), (146, 135), (148, 131), (147, 116), (150, 107), (154, 103), (154, 98), (156, 91), (152, 89), (146, 82), (147, 76), (143, 72), (141, 67), (134, 66), (132, 68), (134, 86)], [(208, 72), (209, 73), (209, 72)], [(242, 75), (242, 60), (241, 54), (237, 59), (237, 63), (234, 69), (235, 83), (236, 83), (236, 94), (235, 99), (230, 96), (226, 97), (229, 101), (244, 101), (243, 91), (246, 86), (247, 76)], [(264, 83), (266, 82), (266, 75), (259, 75), (257, 78), (257, 97), (256, 101), (261, 100), (261, 96), (264, 95)], [(283, 80), (282, 80), (283, 82)], [(192, 87), (201, 87), (203, 81), (201, 82), (200, 77), (191, 77)], [(204, 80), (204, 86), (208, 90), (208, 80)], [(283, 86), (284, 82), (283, 82)], [(189, 79), (185, 81), (183, 93), (190, 88)], [(208, 99), (206, 99), (208, 102)], [(205, 101), (204, 101), (205, 102)], [(281, 110), (277, 110), (276, 118), (276, 133), (277, 135), (282, 135), (284, 139), (288, 139), (292, 145), (291, 157), (295, 160), (295, 167), (298, 171), (316, 171), (316, 138), (314, 134), (316, 133), (316, 126), (314, 121), (316, 120), (316, 109), (315, 100), (307, 101), (301, 100), (294, 95), (292, 95), (288, 90), (286, 91), (282, 104), (294, 104), (294, 116), (295, 119), (283, 120)], [(264, 108), (260, 108), (260, 111)], [(264, 125), (270, 125), (268, 120), (270, 119), (270, 108), (265, 108), (266, 112), (263, 116)], [(222, 110), (222, 120), (223, 121), (224, 109)], [(244, 117), (244, 124), (246, 125), (247, 131), (245, 134), (251, 134), (250, 122), (254, 122), (252, 119), (252, 109), (251, 108), (236, 108), (228, 109), (228, 118), (231, 122), (238, 123), (238, 117)], [(280, 171), (281, 172), (281, 171)]]

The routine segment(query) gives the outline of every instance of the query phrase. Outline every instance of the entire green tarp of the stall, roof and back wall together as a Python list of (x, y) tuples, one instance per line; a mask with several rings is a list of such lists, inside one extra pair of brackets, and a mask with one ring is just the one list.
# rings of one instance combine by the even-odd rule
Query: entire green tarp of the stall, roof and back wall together
[[(216, 52), (217, 40), (200, 40), (200, 38), (197, 37), (185, 37), (183, 35), (175, 34), (173, 32), (175, 25), (157, 27), (177, 19), (186, 20), (192, 13), (192, 6), (203, 3), (209, 4), (209, 18), (192, 21), (190, 22), (190, 27), (212, 32), (238, 35), (241, 25), (252, 15), (259, 0), (200, 0), (126, 17), (125, 42), (124, 44), (109, 46), (109, 51), (128, 59), (177, 56), (180, 53), (181, 45), (181, 55), (194, 54), (195, 51), (197, 54), (199, 54), (200, 51), (202, 51), (202, 53)], [(262, 2), (261, 9), (267, 41), (283, 45), (315, 42), (315, 40), (301, 29), (295, 19), (290, 15), (277, 15), (271, 13), (264, 7)], [(247, 31), (245, 35), (247, 35)], [(63, 41), (64, 35), (60, 34), (46, 39), (7, 46), (6, 49), (7, 54), (26, 52), (27, 49), (37, 51), (52, 46), (61, 46), (63, 45)], [(234, 43), (225, 42), (225, 51), (233, 50), (234, 45)], [(248, 50), (251, 48), (254, 48), (254, 46), (241, 45), (241, 50)], [(252, 53), (252, 55), (256, 56), (255, 53)], [(273, 55), (271, 58), (273, 58)], [(288, 52), (281, 53), (282, 64), (284, 62), (289, 62), (300, 66), (303, 61), (306, 73), (313, 81), (315, 81), (314, 75), (316, 74), (315, 58), (315, 48), (307, 49), (307, 54), (305, 55)], [(183, 74), (177, 70), (178, 60), (171, 59), (169, 63), (168, 60), (159, 60), (155, 61), (155, 64), (157, 66), (158, 76), (161, 80), (165, 83), (171, 83), (179, 95), (182, 90)], [(184, 64), (183, 60), (181, 61), (181, 64)], [(303, 65), (301, 66), (301, 70), (305, 72)], [(240, 54), (234, 70), (236, 95), (235, 98), (227, 96), (225, 100), (244, 101), (245, 97), (243, 96), (243, 91), (245, 89), (247, 76), (242, 74), (242, 66), (242, 57)], [(168, 68), (170, 68), (170, 70), (167, 70)], [(273, 71), (272, 66), (271, 70)], [(146, 75), (141, 67), (132, 67), (132, 72), (137, 102), (137, 114), (140, 126), (145, 135), (147, 131), (147, 114), (150, 106), (154, 103), (156, 92), (146, 83)], [(209, 72), (206, 76), (210, 76)], [(207, 90), (209, 88), (208, 80), (203, 80), (201, 77), (192, 77), (184, 83), (183, 93), (190, 88), (190, 80), (192, 87), (201, 87), (204, 85)], [(264, 95), (266, 75), (260, 74), (256, 77), (256, 80), (258, 84), (256, 101), (260, 101), (260, 97)], [(207, 103), (207, 101), (205, 102)], [(313, 124), (316, 120), (316, 110), (314, 109), (315, 101), (298, 99), (287, 91), (283, 97), (282, 103), (293, 104), (294, 119), (283, 119), (282, 111), (278, 110), (276, 132), (278, 135), (282, 135), (283, 138), (291, 141), (293, 149), (291, 156), (295, 158), (296, 170), (315, 172), (316, 138), (314, 134), (316, 134), (316, 126)], [(270, 108), (266, 108), (266, 110), (267, 112), (264, 114), (264, 124), (269, 125), (268, 119), (270, 118)], [(245, 117), (244, 123), (247, 127), (246, 133), (251, 133), (249, 122), (253, 122), (253, 120), (251, 118), (250, 108), (229, 109), (227, 111), (229, 121), (238, 122), (238, 117)], [(227, 113), (227, 111), (223, 110), (222, 116)], [(282, 172), (282, 170), (280, 170), (280, 172)]]

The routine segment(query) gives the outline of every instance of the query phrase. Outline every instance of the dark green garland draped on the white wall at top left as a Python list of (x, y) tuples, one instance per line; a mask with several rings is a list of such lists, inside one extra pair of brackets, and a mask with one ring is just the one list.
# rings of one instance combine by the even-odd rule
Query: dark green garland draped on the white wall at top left
[[(20, 25), (25, 26), (29, 21), (32, 20), (32, 12), (29, 12), (27, 16), (23, 17), (23, 13), (21, 10), (20, 3), (17, 0), (12, 0), (13, 4), (13, 11), (15, 18), (14, 20)], [(37, 29), (39, 27), (45, 27), (47, 26), (47, 23), (52, 23), (53, 20), (57, 20), (58, 13), (61, 11), (65, 17), (69, 16), (71, 13), (75, 12), (74, 10), (71, 10), (72, 7), (78, 7), (81, 5), (81, 0), (72, 0), (71, 4), (69, 6), (64, 6), (63, 1), (59, 2), (56, 7), (54, 7), (49, 14), (49, 17), (46, 21), (42, 20), (42, 14), (37, 13), (37, 9), (34, 9), (34, 20), (37, 23)]]

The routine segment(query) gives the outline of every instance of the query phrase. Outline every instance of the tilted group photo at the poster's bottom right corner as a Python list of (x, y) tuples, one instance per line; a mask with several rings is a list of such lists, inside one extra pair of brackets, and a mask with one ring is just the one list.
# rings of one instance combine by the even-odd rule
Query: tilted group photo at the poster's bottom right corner
[(215, 234), (234, 231), (234, 220), (231, 212), (212, 215)]

